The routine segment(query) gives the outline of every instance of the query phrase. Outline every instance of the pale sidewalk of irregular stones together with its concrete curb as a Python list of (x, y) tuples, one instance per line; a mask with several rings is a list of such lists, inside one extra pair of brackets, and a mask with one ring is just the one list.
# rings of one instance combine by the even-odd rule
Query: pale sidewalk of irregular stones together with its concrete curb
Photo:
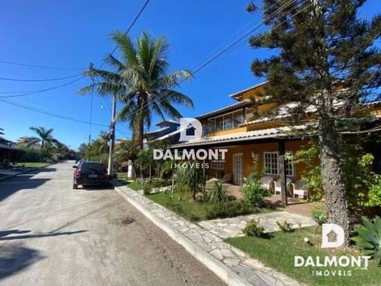
[(228, 285), (300, 285), (126, 186), (115, 190)]

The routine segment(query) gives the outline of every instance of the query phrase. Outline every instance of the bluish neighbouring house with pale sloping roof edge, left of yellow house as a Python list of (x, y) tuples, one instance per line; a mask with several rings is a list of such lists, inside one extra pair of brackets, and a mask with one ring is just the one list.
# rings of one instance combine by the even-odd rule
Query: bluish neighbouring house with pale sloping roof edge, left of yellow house
[(143, 136), (144, 148), (153, 141), (166, 140), (169, 144), (178, 143), (180, 138), (180, 123), (174, 120), (162, 120), (155, 124), (159, 129), (145, 132)]

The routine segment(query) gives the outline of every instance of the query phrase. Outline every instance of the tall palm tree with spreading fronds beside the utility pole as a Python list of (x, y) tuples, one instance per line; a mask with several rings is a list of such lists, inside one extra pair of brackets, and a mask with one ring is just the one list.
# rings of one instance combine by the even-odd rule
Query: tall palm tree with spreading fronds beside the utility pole
[(141, 150), (144, 125), (150, 127), (154, 114), (163, 119), (164, 114), (180, 118), (181, 114), (173, 103), (193, 107), (193, 101), (188, 96), (174, 90), (179, 82), (192, 78), (192, 73), (188, 70), (168, 72), (169, 46), (165, 37), (153, 39), (142, 33), (134, 44), (121, 31), (116, 31), (111, 36), (121, 53), (121, 60), (112, 55), (106, 57), (106, 62), (114, 71), (90, 66), (85, 75), (101, 81), (82, 88), (80, 93), (96, 89), (103, 96), (116, 95), (123, 102), (117, 118), (129, 122), (132, 143), (137, 150)]

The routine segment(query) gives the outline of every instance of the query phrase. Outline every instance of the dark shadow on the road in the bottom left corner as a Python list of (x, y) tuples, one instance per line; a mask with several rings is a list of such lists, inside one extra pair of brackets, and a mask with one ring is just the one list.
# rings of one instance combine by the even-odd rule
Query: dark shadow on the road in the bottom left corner
[(0, 280), (44, 258), (38, 250), (21, 243), (0, 245)]

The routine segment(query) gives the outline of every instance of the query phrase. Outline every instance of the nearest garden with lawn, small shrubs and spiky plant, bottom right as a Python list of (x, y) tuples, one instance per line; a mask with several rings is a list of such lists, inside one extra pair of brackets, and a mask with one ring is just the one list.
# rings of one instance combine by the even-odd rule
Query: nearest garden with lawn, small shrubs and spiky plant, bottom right
[[(317, 214), (324, 217), (324, 214)], [(322, 222), (322, 217), (317, 218)], [(323, 220), (324, 221), (324, 220)], [(305, 285), (380, 285), (381, 271), (381, 219), (375, 217), (374, 222), (364, 219), (361, 226), (357, 226), (352, 240), (355, 247), (322, 249), (321, 227), (308, 227), (291, 229), (287, 222), (278, 223), (281, 231), (263, 233), (263, 228), (258, 222), (251, 221), (243, 230), (246, 236), (228, 238), (225, 242), (249, 253), (252, 258), (263, 262), (267, 267), (299, 280)], [(362, 267), (337, 266), (337, 267), (310, 267), (311, 265), (294, 266), (295, 256), (304, 259), (309, 256), (319, 257), (323, 262), (325, 256), (372, 256), (367, 269)], [(317, 265), (316, 260), (314, 260)]]

